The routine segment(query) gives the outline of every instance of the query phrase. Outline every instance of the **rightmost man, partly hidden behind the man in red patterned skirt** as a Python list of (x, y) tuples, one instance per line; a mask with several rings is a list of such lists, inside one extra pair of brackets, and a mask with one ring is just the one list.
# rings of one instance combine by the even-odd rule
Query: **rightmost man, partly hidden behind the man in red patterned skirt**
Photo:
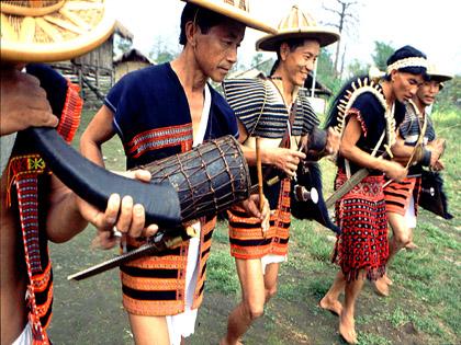
[[(419, 87), (412, 102), (406, 104), (405, 118), (397, 130), (396, 143), (392, 148), (395, 159), (402, 164), (411, 164), (408, 175), (401, 182), (392, 182), (384, 189), (385, 207), (393, 237), (389, 245), (389, 260), (403, 248), (412, 249), (413, 229), (416, 228), (418, 195), (421, 183), (423, 166), (435, 171), (443, 170), (440, 161), (445, 140), (436, 139), (436, 131), (427, 108), (440, 90), (442, 82), (452, 77), (441, 72), (435, 65), (427, 69), (428, 80)], [(424, 130), (424, 133), (423, 133)], [(412, 160), (412, 162), (408, 162)], [(392, 280), (384, 277), (375, 283), (380, 295), (389, 295)]]

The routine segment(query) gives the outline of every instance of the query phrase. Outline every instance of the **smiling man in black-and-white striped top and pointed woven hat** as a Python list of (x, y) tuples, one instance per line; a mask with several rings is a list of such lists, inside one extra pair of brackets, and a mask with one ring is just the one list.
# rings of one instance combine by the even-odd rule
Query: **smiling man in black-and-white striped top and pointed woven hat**
[[(282, 176), (273, 186), (265, 186), (272, 212), (268, 231), (240, 207), (228, 211), (231, 254), (236, 261), (243, 301), (228, 317), (227, 333), (221, 344), (240, 344), (240, 337), (262, 315), (265, 303), (277, 291), (279, 266), (286, 261), (290, 237), (290, 177), (311, 151), (312, 134), (319, 123), (302, 87), (314, 69), (321, 47), (338, 38), (336, 31), (317, 26), (312, 18), (293, 7), (281, 21), (278, 34), (257, 42), (257, 48), (277, 51), (278, 60), (270, 77), (223, 83), (226, 100), (238, 117), (240, 141), (250, 158), (249, 164), (255, 165), (259, 137), (262, 163), (277, 168)], [(317, 151), (324, 153), (316, 152), (316, 159), (338, 149), (335, 130), (322, 134)]]

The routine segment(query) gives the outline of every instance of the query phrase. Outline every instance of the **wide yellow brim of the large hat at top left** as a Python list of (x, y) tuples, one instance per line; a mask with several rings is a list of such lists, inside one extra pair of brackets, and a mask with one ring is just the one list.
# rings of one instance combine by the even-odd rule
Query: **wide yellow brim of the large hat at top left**
[[(97, 23), (86, 22), (76, 14), (77, 12), (69, 14), (75, 22), (65, 23), (58, 15), (53, 18), (56, 13), (53, 15), (48, 13), (48, 16), (44, 18), (40, 15), (24, 18), (4, 13), (2, 9), (1, 59), (14, 62), (52, 62), (71, 59), (91, 51), (104, 43), (114, 30), (115, 20), (108, 13), (105, 1), (100, 1), (101, 7), (98, 11), (103, 12), (98, 16)], [(71, 5), (76, 5), (76, 3), (74, 2)], [(86, 1), (78, 1), (78, 3), (86, 3)], [(88, 3), (89, 11), (91, 11), (91, 5), (94, 2), (88, 1)], [(14, 27), (14, 25), (18, 26), (18, 23), (21, 26), (32, 25), (32, 32), (36, 33), (40, 30), (42, 35), (48, 34), (53, 38), (49, 38), (49, 42), (37, 42), (33, 34), (24, 35), (23, 27)], [(66, 34), (69, 32), (71, 35), (67, 37)]]

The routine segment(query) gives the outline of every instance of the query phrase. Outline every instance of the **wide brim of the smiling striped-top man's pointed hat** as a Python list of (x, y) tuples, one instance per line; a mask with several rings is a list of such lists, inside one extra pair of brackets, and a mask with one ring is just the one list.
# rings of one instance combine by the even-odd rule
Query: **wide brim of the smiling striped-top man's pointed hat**
[(263, 51), (277, 51), (280, 44), (292, 38), (316, 39), (321, 47), (326, 47), (339, 39), (339, 32), (329, 27), (306, 27), (297, 30), (280, 31), (274, 35), (266, 35), (256, 42), (256, 49)]

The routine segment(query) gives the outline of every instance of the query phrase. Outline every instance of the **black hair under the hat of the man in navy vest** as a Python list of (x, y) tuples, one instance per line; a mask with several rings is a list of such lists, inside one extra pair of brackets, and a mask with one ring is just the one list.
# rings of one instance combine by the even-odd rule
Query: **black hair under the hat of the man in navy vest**
[(195, 22), (202, 34), (207, 34), (210, 28), (228, 20), (229, 19), (225, 15), (188, 2), (181, 14), (181, 33), (179, 34), (179, 44), (185, 46), (188, 43), (188, 37), (185, 36), (185, 24), (188, 22)]

